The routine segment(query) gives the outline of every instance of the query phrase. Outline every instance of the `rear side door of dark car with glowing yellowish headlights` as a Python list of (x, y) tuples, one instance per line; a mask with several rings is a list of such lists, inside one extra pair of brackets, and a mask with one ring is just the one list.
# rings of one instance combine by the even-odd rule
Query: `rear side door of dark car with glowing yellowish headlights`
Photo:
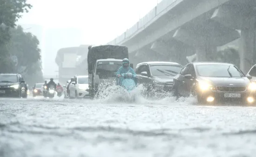
[(184, 75), (187, 75), (187, 71), (189, 69), (189, 66), (190, 66), (190, 64), (185, 65), (182, 68), (181, 73), (180, 73), (180, 75), (177, 78), (177, 90), (178, 90), (178, 93), (181, 96), (186, 96), (186, 92), (185, 92), (186, 91), (185, 90), (185, 77), (184, 77)]

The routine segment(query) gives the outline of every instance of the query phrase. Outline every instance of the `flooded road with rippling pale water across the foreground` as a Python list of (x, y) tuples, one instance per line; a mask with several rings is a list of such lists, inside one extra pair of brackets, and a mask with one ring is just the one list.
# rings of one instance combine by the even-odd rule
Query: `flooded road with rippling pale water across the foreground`
[(255, 157), (256, 107), (0, 99), (0, 157)]

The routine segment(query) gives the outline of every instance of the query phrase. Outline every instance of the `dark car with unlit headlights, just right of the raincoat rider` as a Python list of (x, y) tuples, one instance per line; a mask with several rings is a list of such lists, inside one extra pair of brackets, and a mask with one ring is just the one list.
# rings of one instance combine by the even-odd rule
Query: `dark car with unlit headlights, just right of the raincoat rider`
[(173, 78), (182, 69), (182, 65), (173, 62), (144, 62), (136, 66), (138, 84), (143, 84), (147, 94), (170, 94)]

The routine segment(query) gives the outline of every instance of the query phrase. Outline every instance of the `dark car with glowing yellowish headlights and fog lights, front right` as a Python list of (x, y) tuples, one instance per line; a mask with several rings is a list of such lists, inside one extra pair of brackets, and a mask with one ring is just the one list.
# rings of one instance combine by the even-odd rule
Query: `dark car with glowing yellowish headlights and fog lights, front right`
[(256, 84), (230, 63), (189, 63), (174, 78), (177, 99), (196, 96), (199, 103), (233, 101), (253, 103)]

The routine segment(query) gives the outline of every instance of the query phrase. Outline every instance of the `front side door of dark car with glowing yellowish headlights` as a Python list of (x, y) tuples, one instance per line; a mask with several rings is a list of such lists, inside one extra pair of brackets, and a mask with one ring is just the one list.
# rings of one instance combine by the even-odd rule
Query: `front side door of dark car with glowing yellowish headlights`
[(191, 94), (191, 89), (194, 85), (194, 82), (195, 82), (195, 68), (194, 68), (194, 65), (193, 64), (190, 64), (189, 65), (189, 69), (187, 71), (187, 75), (192, 75), (192, 78), (191, 79), (187, 79), (187, 78), (184, 78), (185, 79), (185, 86), (184, 86), (184, 94), (186, 96), (189, 96)]

